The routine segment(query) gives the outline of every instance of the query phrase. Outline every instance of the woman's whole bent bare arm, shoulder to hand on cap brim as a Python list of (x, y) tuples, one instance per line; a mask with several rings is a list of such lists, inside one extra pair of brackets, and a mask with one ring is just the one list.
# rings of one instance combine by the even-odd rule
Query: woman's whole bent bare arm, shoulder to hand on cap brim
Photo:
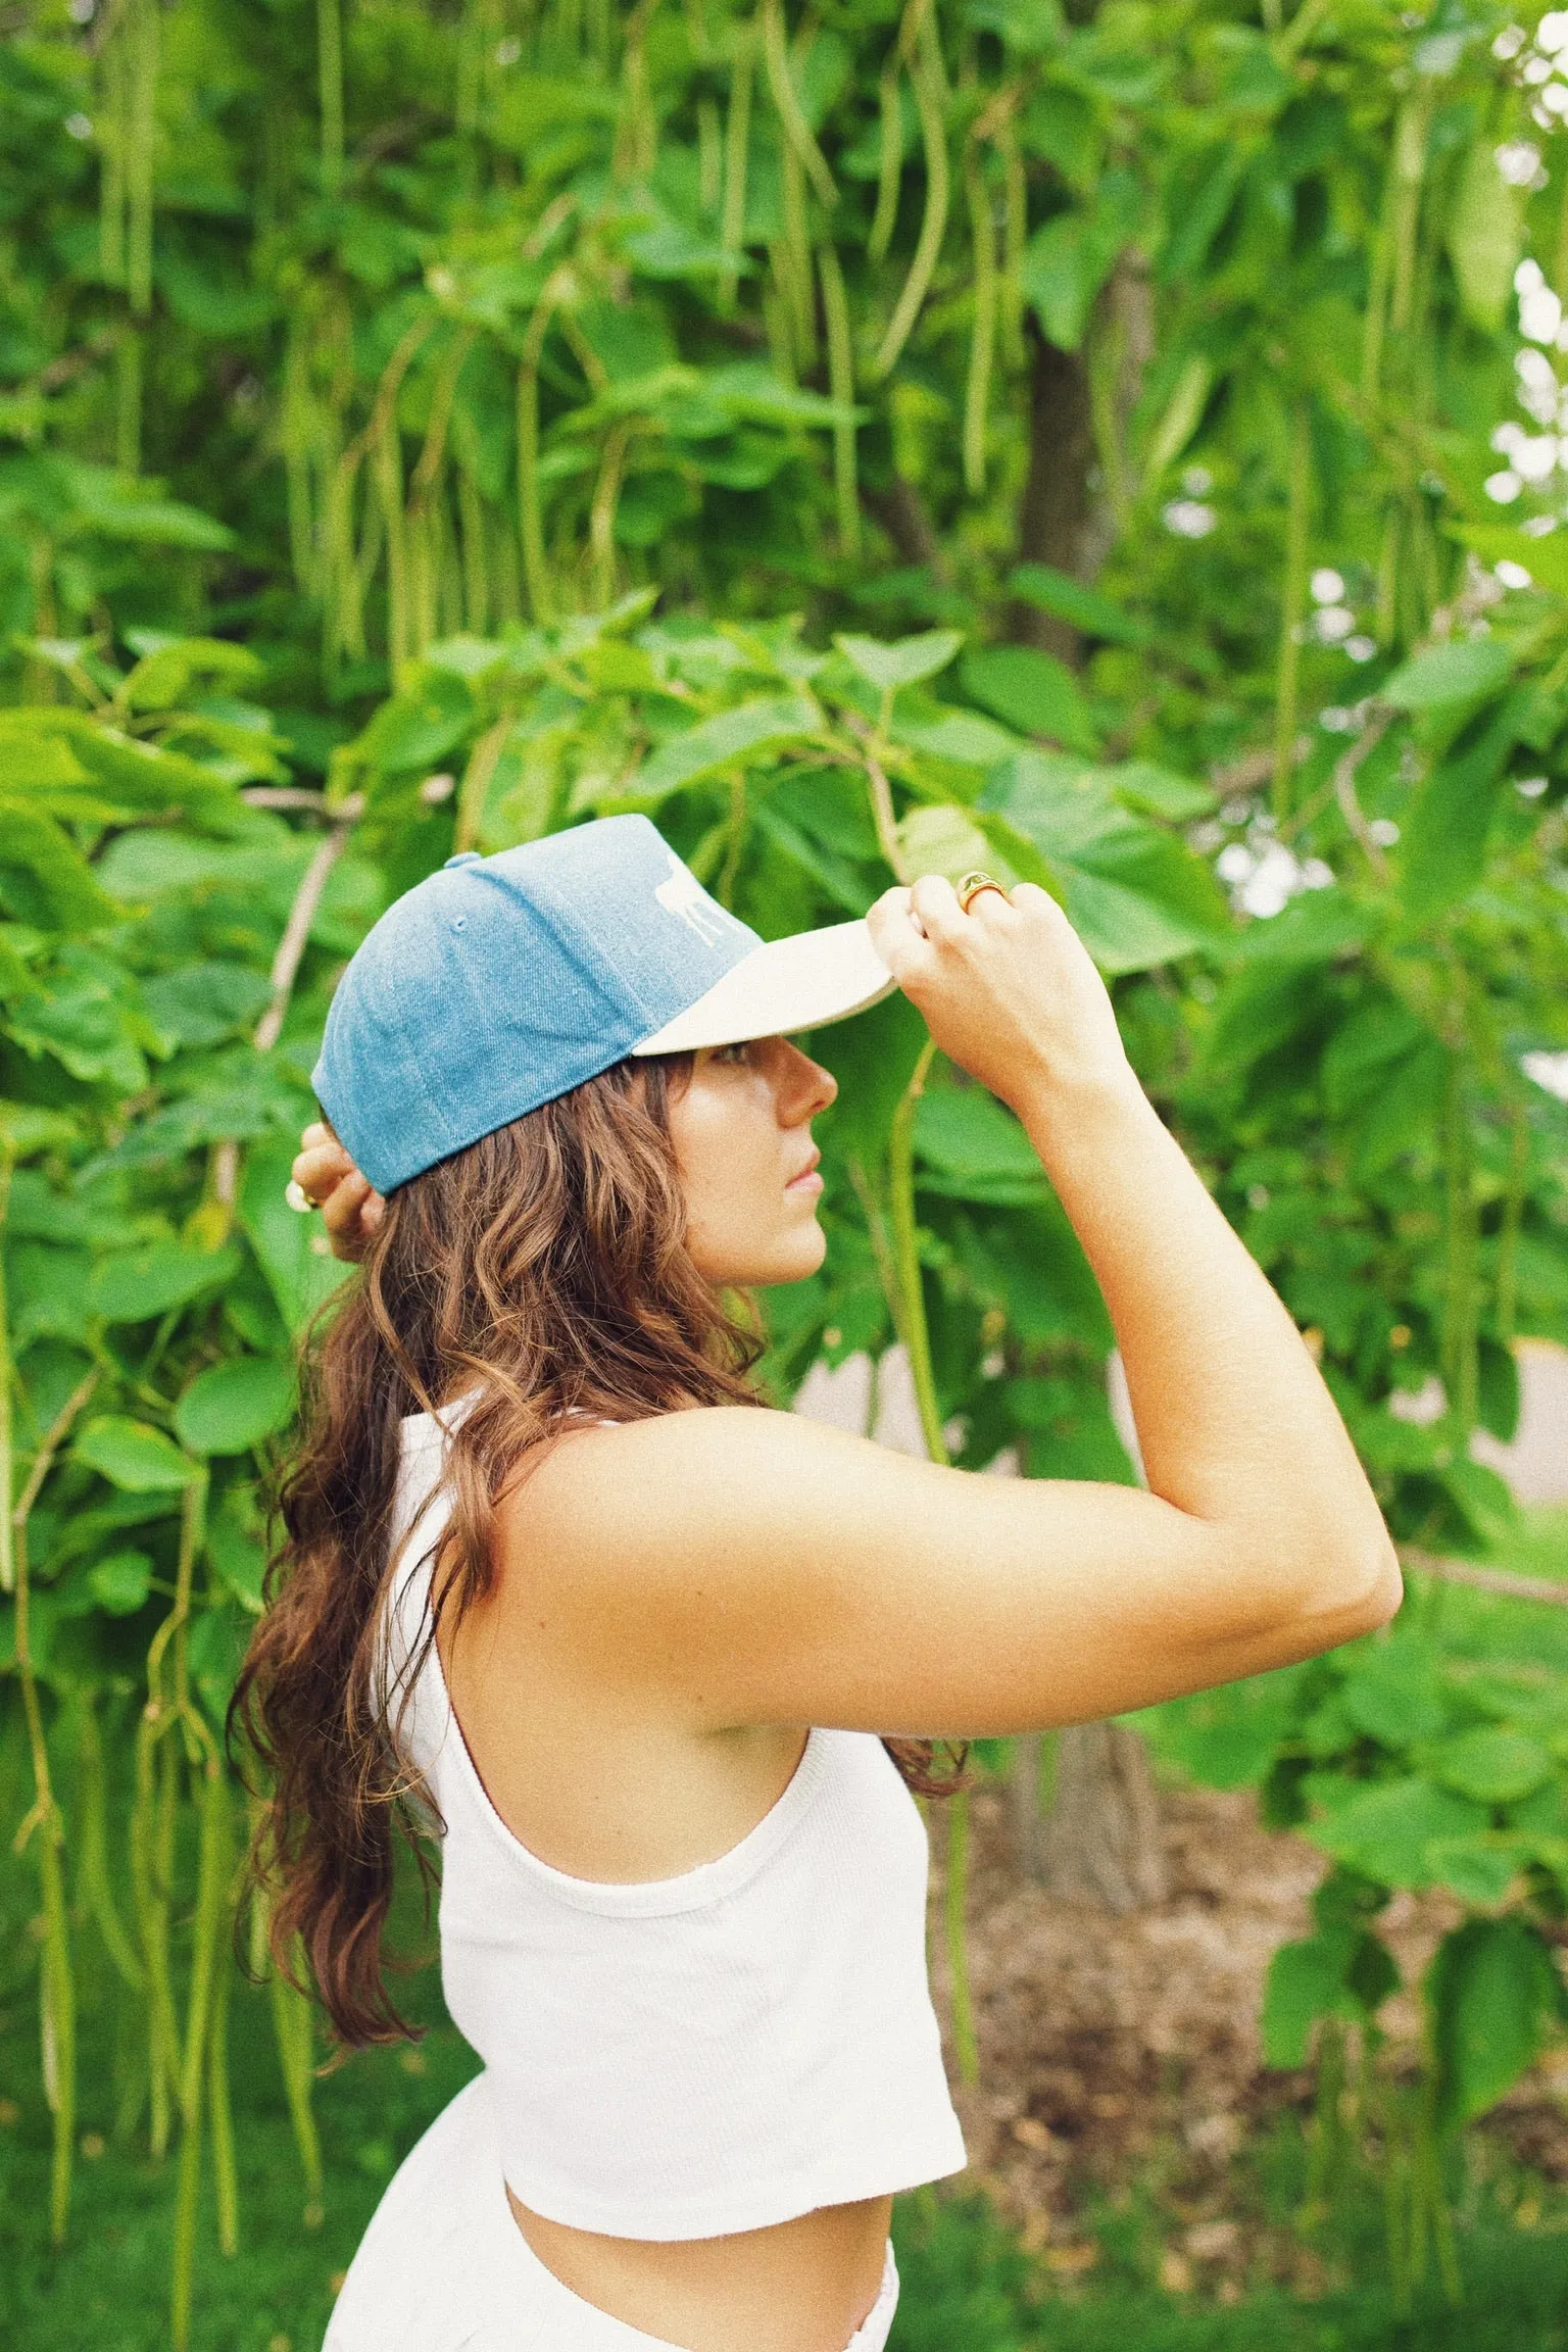
[[(684, 1717), (1006, 1733), (1385, 1623), (1399, 1566), (1286, 1308), (1133, 1077), (1053, 901), (891, 891), (877, 946), (1013, 1105), (1100, 1279), (1150, 1491), (985, 1479), (785, 1414), (581, 1432), (503, 1508), (503, 1578), (597, 1682)], [(522, 1566), (527, 1562), (527, 1569)], [(538, 1618), (534, 1618), (538, 1623)]]

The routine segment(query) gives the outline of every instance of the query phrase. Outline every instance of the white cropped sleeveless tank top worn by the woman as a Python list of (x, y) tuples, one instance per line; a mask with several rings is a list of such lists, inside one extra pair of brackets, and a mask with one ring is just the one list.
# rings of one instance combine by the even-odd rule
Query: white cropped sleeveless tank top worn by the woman
[[(404, 1421), (388, 1668), (416, 1653), (449, 1503)], [(489, 1797), (435, 1644), (402, 1743), (444, 1823), (442, 1990), (489, 2070), (505, 2180), (578, 2230), (759, 2230), (964, 2169), (926, 1983), (926, 1828), (867, 1731), (813, 1729), (778, 1804), (672, 1879), (576, 1879)]]

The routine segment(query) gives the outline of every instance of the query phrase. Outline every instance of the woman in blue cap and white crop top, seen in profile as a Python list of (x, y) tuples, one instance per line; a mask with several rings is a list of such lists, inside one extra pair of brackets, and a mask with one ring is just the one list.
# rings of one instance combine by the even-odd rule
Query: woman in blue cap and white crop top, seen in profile
[[(1147, 1491), (759, 1409), (724, 1305), (823, 1258), (785, 1033), (898, 985), (1009, 1103), (1110, 1305)], [(969, 877), (762, 946), (637, 816), (454, 861), (334, 997), (296, 1181), (364, 1256), (240, 1708), (275, 1945), (388, 2039), (393, 1820), (442, 1832), (484, 2058), (331, 2352), (879, 2352), (961, 2136), (924, 1976), (931, 1736), (1037, 1731), (1389, 1618), (1291, 1317), (1053, 901)], [(339, 1143), (341, 1138), (341, 1143)]]

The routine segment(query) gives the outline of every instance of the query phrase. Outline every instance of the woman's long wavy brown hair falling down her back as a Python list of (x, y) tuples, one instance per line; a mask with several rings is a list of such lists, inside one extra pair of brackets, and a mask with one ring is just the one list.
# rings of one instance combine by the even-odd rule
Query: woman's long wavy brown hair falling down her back
[[(400, 1185), (306, 1350), (282, 1541), (230, 1705), (266, 1773), (252, 1872), (273, 1959), (301, 1952), (341, 2044), (414, 2037), (386, 1983), (397, 1839), (428, 1872), (435, 1809), (400, 1752), (378, 1665), (402, 1416), (465, 1397), (425, 1621), (496, 1578), (496, 1503), (569, 1416), (752, 1404), (762, 1343), (698, 1275), (670, 1143), (689, 1056), (625, 1061)], [(414, 1675), (402, 1677), (407, 1693)], [(936, 1743), (886, 1738), (922, 1795), (959, 1785)]]

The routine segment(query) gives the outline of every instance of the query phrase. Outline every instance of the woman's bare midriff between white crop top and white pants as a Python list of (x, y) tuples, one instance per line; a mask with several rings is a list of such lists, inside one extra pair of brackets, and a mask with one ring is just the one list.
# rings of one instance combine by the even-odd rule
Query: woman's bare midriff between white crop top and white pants
[(651, 2241), (508, 2201), (562, 2286), (682, 2352), (844, 2352), (882, 2288), (893, 2213), (891, 2197), (863, 2197), (766, 2230)]

